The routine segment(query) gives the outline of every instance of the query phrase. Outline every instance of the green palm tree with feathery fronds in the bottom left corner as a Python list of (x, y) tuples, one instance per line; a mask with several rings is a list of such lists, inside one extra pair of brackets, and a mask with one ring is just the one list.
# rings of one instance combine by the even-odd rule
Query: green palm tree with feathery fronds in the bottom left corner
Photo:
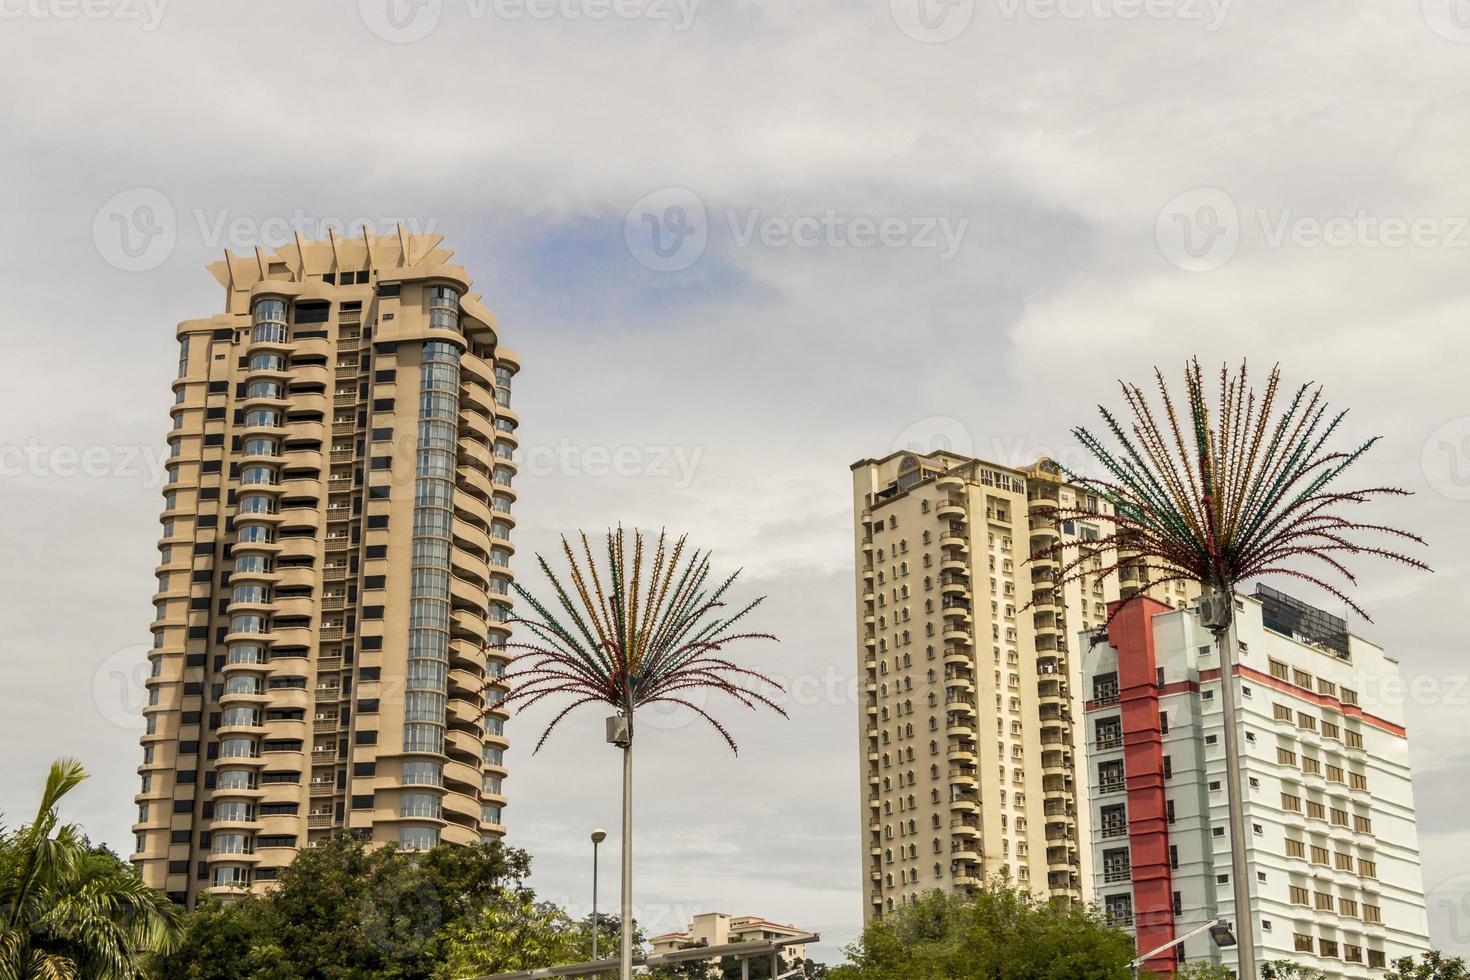
[(56, 813), (87, 779), (59, 760), (35, 820), (0, 835), (0, 980), (129, 980), (140, 952), (168, 948), (179, 909), (106, 848), (93, 848)]

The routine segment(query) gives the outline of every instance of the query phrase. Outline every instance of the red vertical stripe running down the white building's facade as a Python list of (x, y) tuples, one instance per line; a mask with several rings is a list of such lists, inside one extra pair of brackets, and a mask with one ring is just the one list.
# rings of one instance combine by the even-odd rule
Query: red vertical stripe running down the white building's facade
[[(1175, 901), (1169, 874), (1169, 815), (1164, 804), (1164, 732), (1158, 717), (1158, 664), (1154, 616), (1163, 602), (1136, 598), (1108, 626), (1117, 649), (1123, 717), (1123, 771), (1127, 774), (1127, 845), (1133, 867), (1133, 929), (1141, 954), (1175, 940)], [(1173, 976), (1173, 951), (1151, 959), (1154, 973)]]

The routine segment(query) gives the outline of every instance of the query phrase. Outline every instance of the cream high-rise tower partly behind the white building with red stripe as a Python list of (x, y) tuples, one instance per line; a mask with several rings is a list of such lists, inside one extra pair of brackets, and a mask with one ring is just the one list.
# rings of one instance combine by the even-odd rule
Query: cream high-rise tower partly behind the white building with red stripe
[[(1045, 514), (1058, 504), (1101, 505), (1048, 460), (853, 464), (867, 918), (1003, 868), (1039, 893), (1091, 895), (1072, 638), (1107, 620), (1119, 579), (1058, 594), (1058, 564), (1032, 555), (1058, 535), (1108, 533), (1085, 520), (1058, 530)], [(1141, 583), (1125, 570), (1125, 588)], [(1164, 588), (1170, 604), (1188, 598)]]

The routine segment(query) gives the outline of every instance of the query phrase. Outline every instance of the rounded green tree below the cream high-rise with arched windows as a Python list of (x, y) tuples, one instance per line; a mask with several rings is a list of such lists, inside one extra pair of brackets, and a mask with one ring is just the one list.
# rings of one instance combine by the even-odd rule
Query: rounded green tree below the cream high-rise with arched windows
[(832, 980), (1117, 980), (1135, 954), (1095, 909), (1047, 902), (1003, 876), (969, 898), (920, 896), (870, 923), (847, 955)]

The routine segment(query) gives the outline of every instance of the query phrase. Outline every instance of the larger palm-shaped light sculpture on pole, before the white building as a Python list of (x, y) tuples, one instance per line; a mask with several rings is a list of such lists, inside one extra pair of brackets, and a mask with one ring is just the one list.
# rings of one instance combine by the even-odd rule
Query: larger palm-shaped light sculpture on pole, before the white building
[[(1363, 619), (1370, 619), (1345, 591), (1345, 586), (1357, 583), (1348, 561), (1374, 557), (1414, 569), (1427, 570), (1427, 566), (1373, 544), (1423, 544), (1419, 536), (1347, 514), (1352, 504), (1408, 491), (1394, 486), (1339, 488), (1338, 478), (1377, 439), (1349, 450), (1330, 448), (1329, 441), (1347, 413), (1329, 414), (1320, 386), (1299, 386), (1286, 406), (1277, 408), (1279, 370), (1272, 369), (1264, 391), (1257, 397), (1242, 363), (1238, 372), (1220, 369), (1219, 401), (1211, 408), (1204, 373), (1200, 361), (1194, 360), (1185, 370), (1186, 403), (1180, 419), (1163, 375), (1158, 369), (1154, 375), (1163, 425), (1144, 391), (1123, 383), (1130, 423), (1125, 428), (1107, 408), (1098, 408), (1116, 445), (1104, 444), (1085, 428), (1073, 429), (1105, 476), (1092, 478), (1070, 470), (1067, 476), (1107, 505), (1098, 511), (1061, 507), (1053, 516), (1058, 525), (1079, 519), (1095, 522), (1102, 525), (1102, 532), (1095, 541), (1058, 539), (1047, 554), (1058, 563), (1058, 589), (1083, 576), (1108, 576), (1132, 567), (1151, 585), (1189, 580), (1198, 582), (1205, 592), (1201, 617), (1220, 646), (1223, 669), (1220, 689), (1227, 733), (1226, 783), (1239, 937), (1238, 973), (1254, 979), (1250, 871), (1242, 845), (1239, 733), (1230, 683), (1235, 674), (1230, 630), (1235, 594), (1247, 579), (1289, 576), (1324, 589)], [(1092, 567), (1094, 558), (1101, 561), (1100, 569)], [(1341, 580), (1345, 582), (1338, 585)], [(1113, 616), (1120, 608), (1122, 604), (1114, 607)]]

